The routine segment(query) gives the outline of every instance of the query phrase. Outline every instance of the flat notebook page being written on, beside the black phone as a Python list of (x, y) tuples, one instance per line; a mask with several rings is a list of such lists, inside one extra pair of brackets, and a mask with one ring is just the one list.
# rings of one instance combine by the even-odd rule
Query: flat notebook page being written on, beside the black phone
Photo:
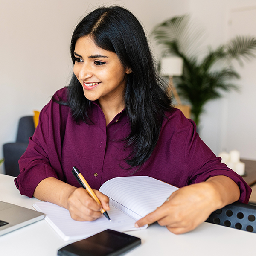
[(64, 241), (84, 239), (108, 228), (120, 232), (139, 230), (134, 227), (134, 218), (129, 217), (111, 204), (111, 210), (108, 211), (111, 222), (104, 215), (95, 221), (75, 221), (70, 217), (67, 209), (49, 202), (38, 202), (33, 207), (38, 212), (45, 213), (44, 219)]

